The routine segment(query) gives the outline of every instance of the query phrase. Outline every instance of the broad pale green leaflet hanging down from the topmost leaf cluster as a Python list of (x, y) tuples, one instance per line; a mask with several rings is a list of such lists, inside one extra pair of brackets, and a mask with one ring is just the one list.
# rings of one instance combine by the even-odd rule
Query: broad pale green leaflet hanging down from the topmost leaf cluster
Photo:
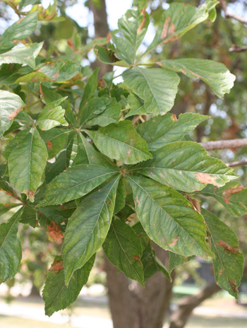
[(164, 115), (174, 105), (179, 76), (167, 69), (134, 67), (123, 72), (123, 80), (141, 99), (148, 114)]

